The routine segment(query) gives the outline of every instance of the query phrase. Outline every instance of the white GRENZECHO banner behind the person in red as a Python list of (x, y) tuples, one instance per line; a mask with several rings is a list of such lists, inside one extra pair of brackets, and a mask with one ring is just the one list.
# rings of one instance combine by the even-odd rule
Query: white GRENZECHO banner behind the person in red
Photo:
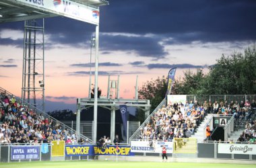
[(162, 153), (162, 146), (166, 147), (167, 153), (172, 153), (172, 142), (160, 141), (139, 141), (131, 140), (131, 152), (133, 153)]

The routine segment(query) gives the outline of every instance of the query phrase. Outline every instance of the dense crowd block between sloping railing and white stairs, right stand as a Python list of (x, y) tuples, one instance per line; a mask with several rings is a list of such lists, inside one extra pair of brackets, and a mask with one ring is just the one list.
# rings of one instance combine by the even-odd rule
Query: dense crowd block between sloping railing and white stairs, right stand
[(140, 139), (172, 140), (194, 134), (206, 110), (197, 102), (162, 106), (139, 132)]

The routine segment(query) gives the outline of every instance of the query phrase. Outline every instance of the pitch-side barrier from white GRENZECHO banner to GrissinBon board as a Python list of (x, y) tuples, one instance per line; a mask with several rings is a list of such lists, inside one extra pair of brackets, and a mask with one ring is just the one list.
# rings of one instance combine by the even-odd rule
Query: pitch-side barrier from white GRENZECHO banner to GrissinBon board
[[(241, 159), (256, 161), (256, 144), (240, 142), (196, 142), (193, 138), (178, 138), (174, 141), (131, 140), (131, 151), (135, 156), (160, 157), (161, 145), (167, 146), (167, 155), (172, 158), (201, 158), (201, 159)], [(130, 159), (131, 160), (131, 159)]]

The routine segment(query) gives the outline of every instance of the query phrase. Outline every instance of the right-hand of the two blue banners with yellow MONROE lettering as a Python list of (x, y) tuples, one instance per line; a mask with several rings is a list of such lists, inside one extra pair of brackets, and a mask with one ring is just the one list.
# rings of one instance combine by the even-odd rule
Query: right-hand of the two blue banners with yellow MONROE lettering
[(95, 155), (114, 155), (114, 156), (134, 156), (131, 153), (131, 146), (116, 146), (107, 145), (105, 149), (99, 149), (98, 146), (94, 146)]

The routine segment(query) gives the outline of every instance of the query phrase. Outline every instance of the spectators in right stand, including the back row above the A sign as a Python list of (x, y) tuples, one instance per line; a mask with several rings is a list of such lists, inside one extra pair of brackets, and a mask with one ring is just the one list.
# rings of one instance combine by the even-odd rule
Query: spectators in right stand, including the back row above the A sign
[[(253, 140), (255, 137), (255, 122), (251, 122), (256, 110), (256, 103), (246, 100), (241, 101), (204, 101), (199, 104), (197, 101), (190, 103), (173, 103), (162, 106), (147, 122), (144, 128), (139, 130), (139, 139), (143, 140), (172, 140), (173, 138), (186, 138), (196, 132), (197, 126), (207, 114), (230, 115), (235, 120), (245, 120), (249, 124), (246, 126), (246, 133), (243, 133), (244, 141)], [(250, 121), (249, 121), (250, 120)], [(252, 126), (253, 125), (253, 126)], [(248, 138), (250, 137), (250, 138)], [(255, 140), (255, 138), (254, 138)], [(241, 140), (239, 140), (241, 141)]]

